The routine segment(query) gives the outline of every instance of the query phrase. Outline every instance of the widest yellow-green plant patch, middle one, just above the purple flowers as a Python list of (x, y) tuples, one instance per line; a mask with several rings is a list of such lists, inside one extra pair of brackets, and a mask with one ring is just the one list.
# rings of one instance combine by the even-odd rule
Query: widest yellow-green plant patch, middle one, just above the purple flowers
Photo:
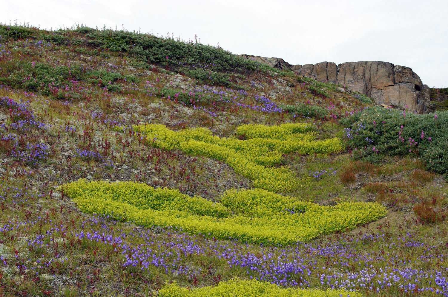
[(386, 214), (378, 203), (321, 206), (262, 189), (228, 190), (221, 203), (130, 181), (78, 180), (61, 190), (84, 212), (142, 226), (172, 226), (190, 234), (275, 245), (353, 229)]

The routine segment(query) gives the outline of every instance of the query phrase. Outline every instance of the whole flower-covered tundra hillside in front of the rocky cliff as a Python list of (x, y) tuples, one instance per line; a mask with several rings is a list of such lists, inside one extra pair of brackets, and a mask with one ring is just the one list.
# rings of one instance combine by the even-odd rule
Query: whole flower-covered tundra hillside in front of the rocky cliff
[(0, 296), (448, 296), (447, 129), (195, 40), (0, 25)]

